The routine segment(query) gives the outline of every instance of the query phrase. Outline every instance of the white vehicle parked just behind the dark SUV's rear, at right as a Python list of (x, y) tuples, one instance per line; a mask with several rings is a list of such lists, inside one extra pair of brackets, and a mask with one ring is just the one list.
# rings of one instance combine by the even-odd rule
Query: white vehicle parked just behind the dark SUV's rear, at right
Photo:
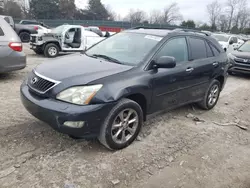
[(240, 40), (237, 36), (232, 36), (228, 34), (213, 34), (212, 35), (225, 51), (233, 51), (233, 49), (238, 48), (244, 43), (243, 40)]

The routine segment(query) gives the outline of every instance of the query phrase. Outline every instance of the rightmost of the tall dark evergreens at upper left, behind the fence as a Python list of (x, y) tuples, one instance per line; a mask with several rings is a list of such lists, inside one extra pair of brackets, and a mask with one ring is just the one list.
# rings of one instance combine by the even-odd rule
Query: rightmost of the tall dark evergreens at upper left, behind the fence
[(93, 18), (97, 20), (108, 20), (109, 13), (101, 0), (89, 0), (88, 11), (93, 13)]

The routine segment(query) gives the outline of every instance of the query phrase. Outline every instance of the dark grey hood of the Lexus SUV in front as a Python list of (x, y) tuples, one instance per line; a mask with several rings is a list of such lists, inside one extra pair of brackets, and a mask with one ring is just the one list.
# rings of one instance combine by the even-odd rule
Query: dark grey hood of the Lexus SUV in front
[(38, 65), (35, 71), (53, 80), (63, 82), (70, 79), (74, 84), (87, 84), (131, 68), (133, 67), (76, 54), (45, 62)]

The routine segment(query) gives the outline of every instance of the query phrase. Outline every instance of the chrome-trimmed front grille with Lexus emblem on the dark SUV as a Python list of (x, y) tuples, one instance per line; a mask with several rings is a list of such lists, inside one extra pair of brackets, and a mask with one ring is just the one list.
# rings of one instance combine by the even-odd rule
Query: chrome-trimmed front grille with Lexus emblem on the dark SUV
[(46, 93), (48, 90), (52, 89), (54, 86), (56, 86), (59, 82), (52, 81), (49, 78), (45, 78), (44, 76), (41, 76), (34, 72), (31, 73), (31, 75), (28, 78), (28, 86), (38, 92), (38, 93)]

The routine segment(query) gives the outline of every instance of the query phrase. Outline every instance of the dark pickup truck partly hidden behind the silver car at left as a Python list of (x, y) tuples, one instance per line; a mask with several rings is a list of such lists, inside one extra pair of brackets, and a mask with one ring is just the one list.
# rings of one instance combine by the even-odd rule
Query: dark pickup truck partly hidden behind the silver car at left
[(22, 42), (29, 42), (31, 34), (37, 34), (38, 27), (35, 25), (15, 24), (11, 16), (0, 15), (16, 31)]

